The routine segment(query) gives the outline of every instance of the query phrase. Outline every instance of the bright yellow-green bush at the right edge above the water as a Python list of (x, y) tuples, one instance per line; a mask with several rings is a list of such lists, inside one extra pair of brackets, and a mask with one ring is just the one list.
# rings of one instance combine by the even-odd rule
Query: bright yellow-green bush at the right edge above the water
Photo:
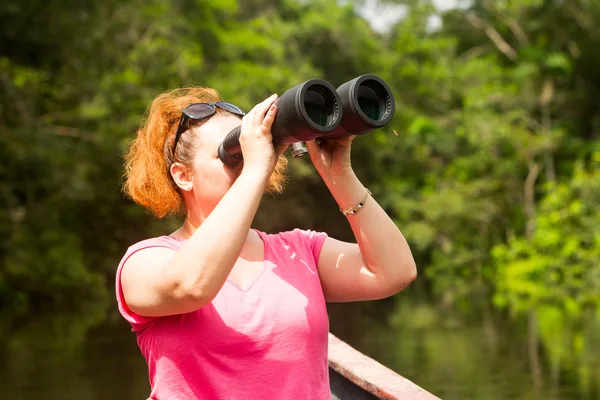
[(549, 183), (532, 237), (496, 246), (496, 303), (522, 312), (540, 305), (579, 316), (600, 306), (600, 153), (570, 180)]

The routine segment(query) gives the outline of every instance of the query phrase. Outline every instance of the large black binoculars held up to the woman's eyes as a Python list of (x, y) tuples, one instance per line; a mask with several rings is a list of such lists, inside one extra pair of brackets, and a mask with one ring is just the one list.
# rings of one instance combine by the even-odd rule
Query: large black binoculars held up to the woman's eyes
[[(371, 74), (354, 78), (337, 90), (327, 81), (310, 79), (288, 89), (275, 105), (273, 145), (291, 144), (294, 157), (307, 153), (303, 142), (371, 132), (387, 125), (395, 111), (390, 87)], [(219, 145), (219, 158), (229, 167), (242, 161), (240, 133), (241, 127), (234, 128)]]

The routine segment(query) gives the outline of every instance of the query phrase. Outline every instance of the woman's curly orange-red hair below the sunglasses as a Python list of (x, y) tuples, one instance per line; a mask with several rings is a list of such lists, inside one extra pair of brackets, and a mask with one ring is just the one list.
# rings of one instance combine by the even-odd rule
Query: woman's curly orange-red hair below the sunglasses
[[(221, 100), (216, 90), (204, 87), (175, 89), (157, 96), (125, 155), (125, 194), (158, 218), (180, 212), (182, 197), (169, 169), (174, 162), (191, 167), (195, 153), (195, 135), (188, 131), (181, 135), (176, 153), (171, 154), (181, 110), (192, 103)], [(225, 111), (217, 109), (217, 114), (221, 113)], [(287, 159), (279, 157), (267, 192), (283, 190), (286, 166)]]

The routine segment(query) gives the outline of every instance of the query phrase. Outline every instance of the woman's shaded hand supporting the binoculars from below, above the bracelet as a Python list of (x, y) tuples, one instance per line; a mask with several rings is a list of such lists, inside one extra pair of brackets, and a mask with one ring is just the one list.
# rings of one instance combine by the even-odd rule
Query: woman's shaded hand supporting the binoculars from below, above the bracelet
[(346, 136), (317, 143), (306, 142), (310, 159), (326, 184), (335, 183), (337, 178), (352, 174), (350, 148), (355, 136)]

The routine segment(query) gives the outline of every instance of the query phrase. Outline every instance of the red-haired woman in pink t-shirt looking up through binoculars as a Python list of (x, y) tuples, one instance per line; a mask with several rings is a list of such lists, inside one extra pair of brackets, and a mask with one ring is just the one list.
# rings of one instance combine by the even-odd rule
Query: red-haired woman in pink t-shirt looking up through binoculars
[[(133, 200), (185, 215), (131, 246), (117, 271), (153, 399), (329, 399), (326, 301), (384, 298), (416, 277), (404, 237), (352, 171), (351, 138), (307, 145), (357, 244), (251, 229), (264, 192), (282, 187), (276, 99), (244, 115), (212, 89), (162, 94), (126, 157)], [(227, 168), (217, 148), (240, 124), (244, 161)]]

